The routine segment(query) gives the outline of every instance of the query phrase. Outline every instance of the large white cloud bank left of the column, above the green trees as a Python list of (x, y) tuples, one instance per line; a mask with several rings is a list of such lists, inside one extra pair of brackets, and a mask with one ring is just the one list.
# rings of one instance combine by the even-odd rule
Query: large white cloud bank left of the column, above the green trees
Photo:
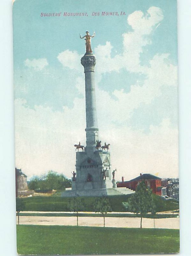
[(64, 107), (64, 112), (26, 105), (26, 100), (15, 100), (16, 166), (29, 177), (48, 170), (70, 177), (75, 169), (74, 144), (85, 143), (84, 100), (75, 99), (74, 108)]

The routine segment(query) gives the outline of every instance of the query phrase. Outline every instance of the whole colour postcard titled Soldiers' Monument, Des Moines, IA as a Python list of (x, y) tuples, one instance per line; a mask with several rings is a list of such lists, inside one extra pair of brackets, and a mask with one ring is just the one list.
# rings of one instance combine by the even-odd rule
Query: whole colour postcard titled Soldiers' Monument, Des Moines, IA
[(177, 253), (177, 3), (13, 2), (20, 255)]

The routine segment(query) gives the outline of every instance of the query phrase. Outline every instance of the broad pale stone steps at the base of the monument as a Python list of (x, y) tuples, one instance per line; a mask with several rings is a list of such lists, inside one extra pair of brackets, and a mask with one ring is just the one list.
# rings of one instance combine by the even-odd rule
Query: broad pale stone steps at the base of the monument
[(129, 188), (100, 188), (100, 189), (86, 189), (86, 190), (66, 190), (62, 193), (64, 197), (74, 196), (117, 196), (134, 193)]

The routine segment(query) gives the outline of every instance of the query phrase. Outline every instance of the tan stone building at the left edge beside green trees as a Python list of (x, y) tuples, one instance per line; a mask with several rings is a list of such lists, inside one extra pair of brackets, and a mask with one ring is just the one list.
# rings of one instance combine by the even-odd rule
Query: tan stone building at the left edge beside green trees
[(15, 168), (16, 197), (33, 195), (33, 190), (28, 190), (27, 175), (21, 169)]

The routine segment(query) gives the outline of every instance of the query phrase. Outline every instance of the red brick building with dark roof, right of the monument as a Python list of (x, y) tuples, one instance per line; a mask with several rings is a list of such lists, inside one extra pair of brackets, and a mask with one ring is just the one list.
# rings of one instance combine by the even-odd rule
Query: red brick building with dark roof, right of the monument
[(142, 180), (145, 180), (146, 185), (152, 189), (154, 194), (159, 196), (166, 196), (166, 188), (162, 187), (161, 185), (162, 179), (149, 173), (140, 173), (140, 176), (129, 181), (124, 181), (124, 177), (122, 177), (122, 182), (118, 182), (117, 187), (126, 187), (132, 190), (136, 190), (137, 185)]

